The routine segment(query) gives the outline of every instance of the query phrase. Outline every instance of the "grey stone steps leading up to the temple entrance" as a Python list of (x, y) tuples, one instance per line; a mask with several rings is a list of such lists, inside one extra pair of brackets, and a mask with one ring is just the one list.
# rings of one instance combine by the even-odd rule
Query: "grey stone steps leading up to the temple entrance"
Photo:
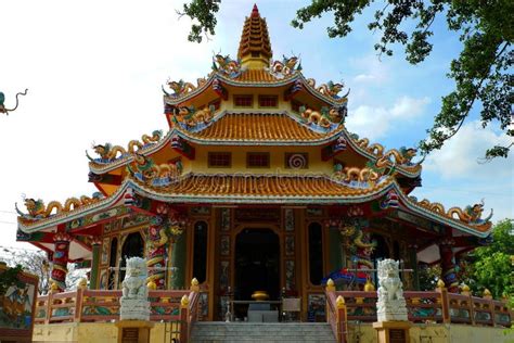
[(193, 326), (191, 342), (323, 342), (334, 343), (325, 322), (216, 322)]

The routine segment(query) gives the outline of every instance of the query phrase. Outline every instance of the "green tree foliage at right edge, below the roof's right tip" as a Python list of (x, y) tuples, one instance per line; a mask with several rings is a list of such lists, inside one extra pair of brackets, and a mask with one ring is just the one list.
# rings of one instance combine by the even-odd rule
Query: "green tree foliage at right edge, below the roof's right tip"
[(496, 298), (514, 295), (514, 225), (510, 219), (497, 224), (492, 231), (493, 242), (470, 253), (461, 264), (461, 280), (475, 294), (484, 289)]

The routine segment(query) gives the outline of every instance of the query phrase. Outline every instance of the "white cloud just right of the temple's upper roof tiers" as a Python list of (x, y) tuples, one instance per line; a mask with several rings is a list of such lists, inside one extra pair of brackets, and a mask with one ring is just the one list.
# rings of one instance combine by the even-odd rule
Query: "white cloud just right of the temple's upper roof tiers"
[(391, 107), (360, 105), (350, 109), (346, 126), (352, 132), (359, 134), (371, 140), (384, 137), (394, 128), (395, 123), (409, 123), (409, 120), (423, 114), (426, 105), (431, 102), (428, 98), (401, 97)]

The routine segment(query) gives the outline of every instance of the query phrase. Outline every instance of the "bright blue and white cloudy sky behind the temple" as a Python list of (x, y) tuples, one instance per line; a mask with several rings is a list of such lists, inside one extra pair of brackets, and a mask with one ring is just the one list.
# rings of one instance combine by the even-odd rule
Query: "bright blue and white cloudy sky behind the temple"
[[(378, 59), (380, 35), (367, 28), (373, 11), (352, 24), (343, 39), (329, 39), (331, 15), (290, 26), (301, 1), (259, 1), (267, 17), (275, 59), (299, 54), (306, 77), (318, 84), (344, 80), (351, 88), (347, 127), (387, 148), (415, 145), (425, 137), (441, 96), (453, 85), (449, 63), (461, 43), (435, 23), (434, 51), (412, 66), (401, 49)], [(7, 105), (29, 88), (20, 109), (0, 117), (4, 147), (0, 169), (0, 238), (11, 244), (13, 204), (22, 194), (64, 201), (90, 194), (85, 150), (93, 141), (125, 145), (156, 128), (166, 129), (160, 85), (169, 78), (194, 81), (210, 71), (211, 55), (235, 56), (244, 18), (253, 1), (223, 1), (216, 36), (202, 45), (187, 41), (190, 22), (178, 18), (180, 2), (156, 0), (20, 0), (2, 4), (4, 53), (0, 90)], [(8, 52), (5, 52), (8, 51)], [(423, 185), (414, 194), (447, 208), (486, 199), (494, 219), (514, 217), (513, 157), (481, 165), (477, 158), (505, 137), (483, 130), (475, 109), (463, 131), (424, 164)], [(9, 166), (9, 167), (7, 167)]]

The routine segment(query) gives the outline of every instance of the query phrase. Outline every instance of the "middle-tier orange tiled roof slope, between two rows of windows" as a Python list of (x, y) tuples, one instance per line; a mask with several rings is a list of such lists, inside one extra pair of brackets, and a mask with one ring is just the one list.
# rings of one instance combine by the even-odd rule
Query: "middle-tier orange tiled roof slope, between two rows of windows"
[(342, 129), (316, 132), (282, 113), (230, 113), (202, 131), (185, 135), (200, 140), (298, 142), (323, 140)]

